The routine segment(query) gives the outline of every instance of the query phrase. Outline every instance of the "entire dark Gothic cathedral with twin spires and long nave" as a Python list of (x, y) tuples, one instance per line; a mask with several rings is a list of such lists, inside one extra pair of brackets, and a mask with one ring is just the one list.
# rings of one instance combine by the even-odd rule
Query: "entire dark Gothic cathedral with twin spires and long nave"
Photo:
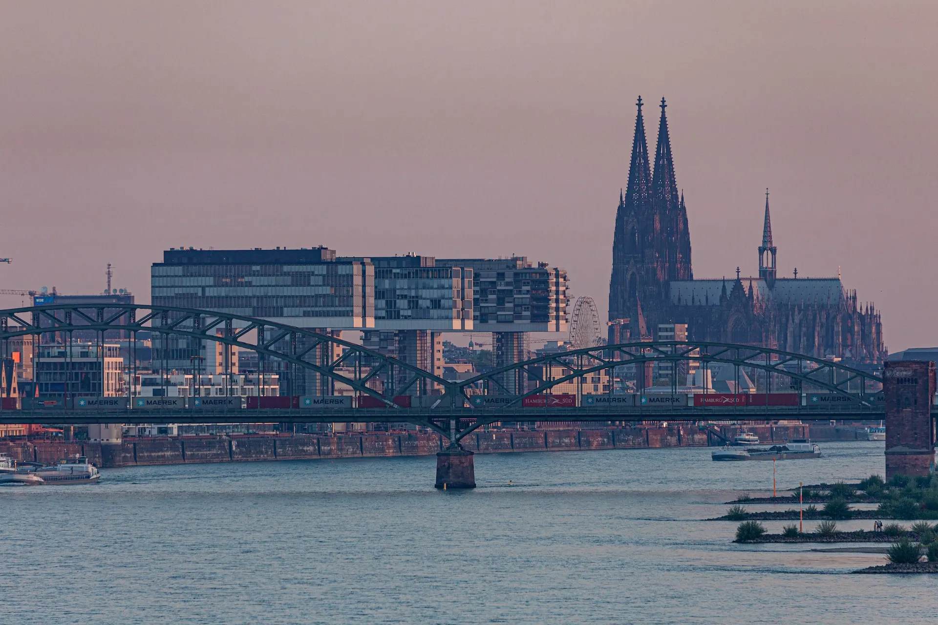
[[(671, 140), (661, 98), (658, 148), (652, 170), (642, 98), (625, 195), (619, 194), (609, 285), (610, 343), (658, 338), (658, 328), (687, 324), (688, 340), (742, 343), (847, 363), (886, 357), (883, 324), (872, 304), (838, 277), (779, 277), (768, 193), (759, 246), (759, 275), (694, 279), (684, 193), (678, 193)], [(671, 336), (669, 335), (669, 338)]]

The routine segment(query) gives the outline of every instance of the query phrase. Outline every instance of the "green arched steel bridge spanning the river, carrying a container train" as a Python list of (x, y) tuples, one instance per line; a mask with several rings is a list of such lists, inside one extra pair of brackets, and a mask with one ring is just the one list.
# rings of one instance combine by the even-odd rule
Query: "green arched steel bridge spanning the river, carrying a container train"
[[(608, 410), (591, 411), (582, 406), (577, 409), (522, 407), (525, 397), (551, 394), (552, 389), (559, 384), (572, 381), (579, 388), (582, 379), (591, 374), (604, 370), (613, 374), (616, 370), (622, 371), (620, 367), (629, 366), (638, 371), (649, 363), (671, 363), (675, 365), (674, 370), (677, 363), (686, 361), (697, 362), (704, 369), (710, 365), (730, 365), (737, 371), (762, 372), (766, 393), (771, 391), (773, 380), (778, 384), (779, 379), (787, 379), (788, 384), (780, 390), (820, 392), (844, 397), (856, 408), (850, 410), (851, 414), (869, 413), (868, 416), (875, 417), (882, 412), (882, 407), (877, 407), (873, 399), (873, 394), (881, 388), (881, 376), (838, 362), (748, 345), (700, 341), (624, 343), (552, 353), (493, 368), (470, 379), (451, 381), (435, 376), (416, 365), (332, 335), (241, 315), (174, 306), (119, 304), (46, 305), (0, 310), (0, 350), (5, 356), (9, 353), (8, 340), (17, 336), (57, 333), (60, 340), (71, 342), (75, 333), (86, 335), (91, 332), (97, 333), (101, 343), (107, 340), (108, 335), (112, 336), (111, 340), (118, 333), (129, 336), (129, 344), (133, 346), (136, 345), (137, 333), (148, 332), (152, 333), (153, 337), (159, 336), (162, 352), (154, 358), (155, 368), (158, 364), (165, 365), (171, 360), (166, 357), (166, 345), (171, 336), (214, 341), (241, 350), (252, 350), (258, 353), (261, 363), (264, 363), (264, 359), (271, 359), (280, 361), (281, 367), (295, 367), (294, 373), (313, 372), (318, 374), (320, 380), (331, 380), (331, 384), (327, 385), (329, 388), (335, 383), (344, 384), (357, 394), (370, 395), (380, 402), (378, 406), (383, 404), (386, 408), (393, 409), (357, 409), (354, 415), (335, 410), (320, 411), (317, 415), (311, 415), (310, 410), (300, 409), (296, 414), (289, 416), (279, 413), (274, 421), (406, 422), (430, 427), (450, 439), (451, 444), (481, 425), (507, 419), (626, 421), (636, 420), (636, 415), (638, 418), (643, 416), (644, 419), (664, 417), (674, 420), (758, 419), (761, 418), (760, 415), (769, 418), (769, 412), (773, 419), (805, 418), (792, 414), (802, 412), (800, 409), (770, 411), (734, 407), (729, 412), (688, 409), (688, 416), (680, 416), (670, 409), (667, 413), (658, 412), (658, 417), (655, 417), (655, 410), (649, 409), (633, 410), (635, 414), (618, 414)], [(230, 362), (230, 359), (227, 360)], [(168, 372), (166, 366), (160, 366), (159, 370), (160, 375)], [(518, 377), (525, 380), (528, 388), (533, 388), (523, 394), (511, 393), (507, 379)], [(610, 378), (613, 378), (613, 375)], [(291, 379), (295, 379), (295, 375)], [(320, 384), (320, 388), (324, 388), (324, 385)], [(641, 392), (642, 389), (638, 390)], [(510, 396), (506, 397), (506, 402), (497, 409), (474, 408), (468, 400), (483, 391)], [(435, 399), (431, 408), (423, 406), (420, 409), (401, 409), (392, 401), (398, 394), (434, 395)], [(140, 410), (128, 412), (136, 412), (134, 419), (143, 419), (146, 423), (165, 422), (170, 418), (151, 411), (147, 411), (145, 415), (140, 414)], [(253, 410), (251, 412), (257, 414)], [(805, 412), (812, 415), (808, 418), (835, 418), (817, 416), (821, 413), (816, 410)], [(201, 414), (204, 415), (203, 420), (210, 416)], [(729, 414), (733, 416), (728, 416)], [(825, 412), (824, 415), (826, 414), (828, 413)], [(171, 416), (174, 421), (178, 421), (177, 414)], [(74, 417), (69, 415), (69, 418)], [(99, 418), (98, 416), (96, 420)], [(120, 418), (125, 423), (132, 423), (128, 421), (127, 414), (122, 414)], [(225, 418), (229, 419), (230, 414)], [(85, 416), (84, 419), (82, 423), (85, 423), (88, 417)], [(256, 421), (257, 417), (252, 416), (251, 419)], [(48, 418), (46, 420), (48, 421)]]

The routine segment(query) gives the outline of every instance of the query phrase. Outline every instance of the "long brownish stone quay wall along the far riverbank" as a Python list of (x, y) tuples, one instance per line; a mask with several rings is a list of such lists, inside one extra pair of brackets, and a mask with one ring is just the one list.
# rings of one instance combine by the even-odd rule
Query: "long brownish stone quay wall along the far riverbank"
[[(731, 437), (739, 426), (717, 428)], [(752, 425), (764, 442), (809, 436), (809, 425)], [(813, 426), (811, 426), (813, 430)], [(669, 425), (557, 430), (479, 431), (461, 440), (477, 454), (557, 452), (599, 449), (703, 447), (721, 444), (705, 427)], [(280, 436), (179, 437), (125, 439), (121, 444), (92, 442), (0, 442), (0, 452), (17, 460), (55, 463), (81, 454), (99, 467), (172, 465), (250, 460), (308, 460), (314, 458), (380, 457), (436, 454), (446, 439), (430, 433), (356, 433), (338, 435), (283, 434)]]

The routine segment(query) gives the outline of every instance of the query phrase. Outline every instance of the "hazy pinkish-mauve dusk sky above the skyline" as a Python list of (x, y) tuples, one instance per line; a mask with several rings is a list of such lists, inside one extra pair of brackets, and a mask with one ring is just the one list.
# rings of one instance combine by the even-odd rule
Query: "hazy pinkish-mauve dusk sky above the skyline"
[[(840, 271), (938, 345), (938, 3), (0, 1), (0, 289), (169, 247), (526, 256), (606, 318), (642, 96), (696, 277)], [(0, 305), (22, 298), (0, 296)]]

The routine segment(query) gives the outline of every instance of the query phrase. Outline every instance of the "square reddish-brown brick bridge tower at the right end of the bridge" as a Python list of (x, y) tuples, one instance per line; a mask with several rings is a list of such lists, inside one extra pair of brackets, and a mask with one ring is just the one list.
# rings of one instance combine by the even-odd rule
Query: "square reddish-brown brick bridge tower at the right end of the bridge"
[(935, 364), (888, 361), (885, 395), (885, 479), (893, 475), (928, 475), (934, 470), (935, 432), (931, 401)]

